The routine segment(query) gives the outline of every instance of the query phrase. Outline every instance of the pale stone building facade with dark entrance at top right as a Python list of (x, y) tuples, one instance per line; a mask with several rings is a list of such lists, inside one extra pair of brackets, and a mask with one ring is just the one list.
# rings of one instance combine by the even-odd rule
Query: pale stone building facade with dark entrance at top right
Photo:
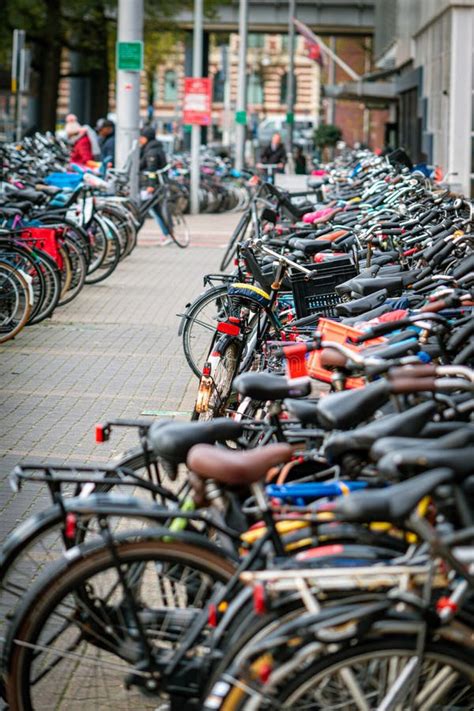
[(375, 59), (396, 101), (398, 142), (474, 196), (474, 2), (378, 0)]

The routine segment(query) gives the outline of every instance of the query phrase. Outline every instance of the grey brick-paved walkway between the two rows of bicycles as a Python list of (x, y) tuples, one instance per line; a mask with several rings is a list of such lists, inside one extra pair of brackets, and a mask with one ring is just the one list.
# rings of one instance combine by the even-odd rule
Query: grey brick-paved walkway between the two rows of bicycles
[(0, 540), (45, 503), (33, 484), (11, 492), (7, 475), (16, 463), (103, 464), (137, 437), (115, 430), (97, 445), (96, 422), (145, 410), (187, 417), (197, 381), (181, 351), (176, 313), (202, 291), (203, 274), (217, 270), (238, 218), (190, 218), (185, 250), (158, 247), (150, 223), (109, 279), (0, 346)]

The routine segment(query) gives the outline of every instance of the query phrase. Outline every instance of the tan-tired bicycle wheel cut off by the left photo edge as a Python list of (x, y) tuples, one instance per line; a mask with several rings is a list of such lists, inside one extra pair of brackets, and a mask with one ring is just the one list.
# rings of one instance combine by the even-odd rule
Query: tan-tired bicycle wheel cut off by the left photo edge
[(31, 312), (30, 287), (7, 262), (0, 261), (0, 343), (14, 338)]

